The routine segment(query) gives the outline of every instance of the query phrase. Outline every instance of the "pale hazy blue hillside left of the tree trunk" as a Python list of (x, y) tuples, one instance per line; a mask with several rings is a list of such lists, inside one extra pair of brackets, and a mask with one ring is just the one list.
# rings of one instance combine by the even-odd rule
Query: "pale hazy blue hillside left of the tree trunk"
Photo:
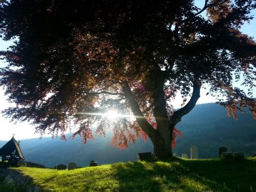
[(43, 164), (46, 167), (71, 162), (77, 163), (78, 166), (87, 166), (91, 160), (99, 164), (127, 162), (137, 160), (141, 148), (146, 151), (152, 149), (150, 142), (145, 143), (144, 140), (138, 139), (136, 145), (130, 145), (127, 150), (119, 150), (109, 145), (110, 138), (110, 135), (96, 137), (95, 140), (89, 140), (86, 145), (83, 145), (79, 136), (67, 141), (51, 137), (34, 138), (21, 140), (20, 147), (26, 161)]

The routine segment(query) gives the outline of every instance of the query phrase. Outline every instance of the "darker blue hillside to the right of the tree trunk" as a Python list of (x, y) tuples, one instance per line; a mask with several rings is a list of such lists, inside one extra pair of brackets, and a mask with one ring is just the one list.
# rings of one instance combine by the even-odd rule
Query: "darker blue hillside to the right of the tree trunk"
[(218, 148), (228, 151), (245, 151), (247, 156), (256, 153), (256, 121), (247, 109), (238, 113), (238, 120), (227, 116), (227, 110), (219, 104), (198, 104), (177, 128), (184, 134), (173, 150), (176, 155), (190, 154), (190, 146), (198, 147), (199, 158), (214, 158)]

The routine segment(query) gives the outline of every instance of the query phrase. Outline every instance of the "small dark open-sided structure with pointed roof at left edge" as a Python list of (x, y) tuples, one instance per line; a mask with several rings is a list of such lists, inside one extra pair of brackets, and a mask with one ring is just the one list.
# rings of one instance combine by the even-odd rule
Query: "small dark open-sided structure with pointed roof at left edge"
[(2, 159), (0, 163), (7, 161), (8, 165), (12, 167), (18, 166), (20, 160), (25, 160), (19, 142), (14, 136), (0, 149), (0, 158)]

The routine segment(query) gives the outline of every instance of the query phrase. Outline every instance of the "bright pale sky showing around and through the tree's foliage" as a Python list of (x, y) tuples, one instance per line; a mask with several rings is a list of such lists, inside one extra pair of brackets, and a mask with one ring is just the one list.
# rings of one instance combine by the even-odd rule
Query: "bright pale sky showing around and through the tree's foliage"
[[(203, 7), (204, 0), (198, 0), (197, 5), (198, 7)], [(203, 12), (202, 14), (205, 14)], [(256, 15), (256, 10), (252, 12), (252, 15)], [(245, 23), (242, 28), (242, 32), (248, 34), (251, 37), (254, 37), (256, 40), (256, 18), (251, 20), (250, 24)], [(11, 41), (5, 42), (0, 39), (0, 50), (6, 50), (8, 46), (12, 44)], [(5, 67), (7, 63), (3, 60), (0, 60), (0, 67)], [(234, 86), (240, 86), (241, 81), (234, 84)], [(201, 89), (201, 97), (199, 98), (197, 104), (201, 103), (212, 103), (216, 102), (216, 98), (207, 95), (207, 85), (206, 89)], [(253, 97), (256, 97), (256, 89), (253, 90)], [(0, 87), (0, 111), (5, 110), (5, 108), (10, 107), (12, 104), (8, 103), (7, 96), (4, 95), (3, 88)], [(180, 104), (182, 103), (182, 98), (180, 94), (177, 94), (175, 102), (172, 103), (174, 108), (179, 108)], [(6, 119), (5, 117), (0, 114), (0, 140), (9, 140), (13, 134), (15, 134), (16, 139), (27, 139), (27, 138), (39, 138), (39, 134), (34, 134), (35, 129), (34, 126), (30, 125), (28, 122), (23, 123), (16, 123), (10, 122), (10, 119)], [(49, 137), (50, 135), (45, 134), (44, 137)]]

